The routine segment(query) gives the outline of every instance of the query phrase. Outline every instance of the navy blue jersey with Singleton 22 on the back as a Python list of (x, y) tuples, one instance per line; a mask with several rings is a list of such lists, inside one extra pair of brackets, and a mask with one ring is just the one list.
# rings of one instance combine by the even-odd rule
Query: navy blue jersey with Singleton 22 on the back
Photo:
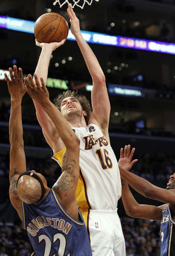
[(92, 256), (87, 229), (71, 217), (52, 188), (38, 204), (22, 202), (23, 227), (33, 247), (33, 256)]

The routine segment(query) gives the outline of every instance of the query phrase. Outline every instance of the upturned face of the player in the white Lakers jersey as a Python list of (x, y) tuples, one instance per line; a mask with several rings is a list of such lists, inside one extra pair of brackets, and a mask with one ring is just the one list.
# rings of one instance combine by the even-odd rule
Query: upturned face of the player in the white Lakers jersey
[(82, 110), (82, 106), (77, 100), (77, 98), (67, 97), (63, 99), (61, 103), (61, 113), (63, 115), (66, 115), (77, 110)]

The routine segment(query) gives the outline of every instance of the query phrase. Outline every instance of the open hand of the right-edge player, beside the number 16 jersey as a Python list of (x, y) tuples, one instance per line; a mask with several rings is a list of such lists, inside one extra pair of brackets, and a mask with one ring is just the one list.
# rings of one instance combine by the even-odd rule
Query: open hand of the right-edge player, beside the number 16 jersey
[(130, 145), (126, 145), (124, 150), (123, 148), (120, 149), (120, 159), (118, 161), (120, 172), (122, 172), (123, 170), (129, 171), (134, 163), (138, 161), (138, 159), (132, 160), (134, 152), (135, 148), (132, 148), (131, 150)]

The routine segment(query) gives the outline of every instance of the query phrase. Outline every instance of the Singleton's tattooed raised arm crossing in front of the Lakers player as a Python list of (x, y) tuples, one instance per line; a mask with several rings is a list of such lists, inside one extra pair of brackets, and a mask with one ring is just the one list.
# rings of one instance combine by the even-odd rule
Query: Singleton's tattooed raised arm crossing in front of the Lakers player
[[(60, 138), (66, 146), (66, 152), (63, 155), (62, 175), (55, 183), (54, 188), (63, 207), (73, 217), (78, 219), (75, 190), (79, 178), (79, 139), (57, 107), (49, 100), (49, 92), (46, 89), (44, 80), (40, 78), (40, 84), (36, 74), (34, 74), (34, 78), (36, 84), (33, 82), (31, 76), (25, 78), (27, 93), (41, 105), (52, 120)], [(65, 189), (63, 188), (63, 184)]]

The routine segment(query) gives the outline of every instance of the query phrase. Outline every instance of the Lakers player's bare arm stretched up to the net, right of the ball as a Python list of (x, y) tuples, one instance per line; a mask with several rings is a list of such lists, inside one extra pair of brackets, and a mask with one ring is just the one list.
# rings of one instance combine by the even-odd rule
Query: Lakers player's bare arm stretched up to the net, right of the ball
[(108, 126), (110, 102), (107, 93), (105, 76), (95, 54), (82, 37), (79, 27), (79, 19), (74, 13), (71, 4), (68, 4), (67, 12), (70, 18), (71, 32), (74, 34), (74, 37), (77, 41), (82, 56), (85, 59), (85, 63), (93, 80), (93, 89), (91, 94), (93, 113), (91, 114), (89, 123), (97, 124), (102, 129), (102, 132), (107, 137), (107, 139), (109, 139)]

